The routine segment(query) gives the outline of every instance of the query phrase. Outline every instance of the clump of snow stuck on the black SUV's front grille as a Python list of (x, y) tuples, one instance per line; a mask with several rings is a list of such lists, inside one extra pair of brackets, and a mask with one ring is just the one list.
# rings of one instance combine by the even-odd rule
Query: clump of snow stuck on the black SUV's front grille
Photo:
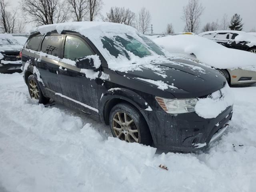
[(212, 94), (212, 98), (199, 99), (195, 106), (196, 114), (205, 119), (216, 118), (220, 113), (226, 110), (226, 108), (232, 106), (234, 103), (234, 94), (228, 86), (228, 83), (226, 83), (220, 92), (222, 94), (221, 98), (218, 97), (219, 92), (215, 92)]

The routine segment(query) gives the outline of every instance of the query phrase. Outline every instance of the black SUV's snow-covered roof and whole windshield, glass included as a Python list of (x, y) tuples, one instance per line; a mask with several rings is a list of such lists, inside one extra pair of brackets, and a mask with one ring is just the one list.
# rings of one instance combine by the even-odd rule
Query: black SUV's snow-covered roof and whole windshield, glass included
[[(41, 34), (57, 30), (74, 30), (98, 48), (112, 70), (139, 70), (138, 66), (170, 62), (165, 51), (131, 26), (108, 22), (69, 22), (40, 26)], [(122, 65), (120, 65), (122, 63)]]

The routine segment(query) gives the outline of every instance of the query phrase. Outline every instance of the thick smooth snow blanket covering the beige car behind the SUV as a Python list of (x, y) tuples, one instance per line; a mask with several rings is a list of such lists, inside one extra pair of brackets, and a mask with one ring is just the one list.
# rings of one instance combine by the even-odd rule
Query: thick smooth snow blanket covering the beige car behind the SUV
[(154, 40), (170, 53), (194, 54), (196, 58), (211, 67), (256, 71), (256, 54), (226, 48), (207, 38), (194, 35), (176, 35)]

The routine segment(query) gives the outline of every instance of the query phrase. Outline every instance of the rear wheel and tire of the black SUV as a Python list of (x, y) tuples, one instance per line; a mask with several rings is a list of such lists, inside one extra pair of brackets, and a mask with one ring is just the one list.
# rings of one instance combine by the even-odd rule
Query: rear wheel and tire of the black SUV
[(46, 104), (50, 100), (50, 98), (44, 97), (38, 81), (36, 80), (34, 75), (28, 76), (28, 92), (30, 94), (30, 97), (38, 100), (38, 103), (40, 104)]

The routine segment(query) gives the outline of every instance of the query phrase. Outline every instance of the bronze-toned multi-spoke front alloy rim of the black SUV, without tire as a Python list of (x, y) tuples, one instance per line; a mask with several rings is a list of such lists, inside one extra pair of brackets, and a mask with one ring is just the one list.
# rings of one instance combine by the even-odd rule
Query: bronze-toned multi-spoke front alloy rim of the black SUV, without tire
[(120, 140), (126, 142), (139, 142), (140, 133), (134, 120), (125, 112), (119, 111), (112, 119), (114, 134)]

